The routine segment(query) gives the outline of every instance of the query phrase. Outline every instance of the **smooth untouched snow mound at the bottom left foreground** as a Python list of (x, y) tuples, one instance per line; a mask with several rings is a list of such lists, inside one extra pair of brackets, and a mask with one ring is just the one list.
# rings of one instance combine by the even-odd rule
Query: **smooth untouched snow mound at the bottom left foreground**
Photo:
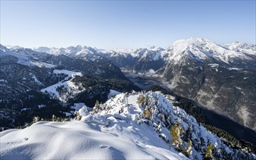
[(1, 132), (1, 159), (186, 159), (170, 151), (146, 124), (121, 121), (105, 127), (101, 119), (39, 121)]

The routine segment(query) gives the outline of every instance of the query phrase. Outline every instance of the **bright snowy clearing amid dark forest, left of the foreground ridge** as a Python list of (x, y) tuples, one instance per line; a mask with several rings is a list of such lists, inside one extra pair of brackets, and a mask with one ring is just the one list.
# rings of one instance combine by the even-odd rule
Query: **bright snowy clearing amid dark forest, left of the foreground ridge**
[(49, 87), (46, 87), (45, 89), (41, 89), (41, 92), (48, 92), (50, 94), (53, 94), (54, 96), (58, 97), (59, 100), (63, 100), (63, 101), (65, 100), (67, 95), (59, 95), (59, 92), (57, 92), (56, 90), (58, 87), (63, 86), (69, 89), (70, 92), (72, 92), (73, 94), (77, 94), (78, 92), (81, 92), (78, 90), (78, 87), (75, 86), (75, 84), (72, 82), (72, 79), (74, 79), (75, 76), (83, 76), (82, 73), (68, 71), (68, 70), (54, 70), (53, 73), (56, 73), (56, 74), (64, 73), (67, 75), (67, 77), (64, 80), (59, 81), (57, 84), (53, 84)]

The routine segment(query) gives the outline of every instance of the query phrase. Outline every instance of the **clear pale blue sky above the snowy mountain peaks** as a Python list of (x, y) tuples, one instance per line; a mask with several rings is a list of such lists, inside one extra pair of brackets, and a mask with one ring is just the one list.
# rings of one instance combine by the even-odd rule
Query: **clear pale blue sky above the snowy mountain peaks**
[(1, 44), (169, 47), (203, 37), (255, 44), (255, 1), (1, 1)]

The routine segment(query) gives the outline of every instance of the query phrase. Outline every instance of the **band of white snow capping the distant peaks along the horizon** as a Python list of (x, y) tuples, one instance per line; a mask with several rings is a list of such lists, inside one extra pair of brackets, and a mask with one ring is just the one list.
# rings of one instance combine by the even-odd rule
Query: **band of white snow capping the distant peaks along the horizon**
[[(167, 49), (159, 47), (138, 48), (138, 49), (97, 49), (86, 46), (76, 46), (67, 48), (48, 48), (39, 47), (33, 48), (37, 52), (47, 52), (51, 55), (66, 55), (68, 57), (86, 57), (87, 55), (99, 55), (102, 57), (135, 57), (138, 60), (152, 60), (160, 59), (179, 63), (184, 60), (184, 56), (188, 56), (197, 61), (204, 62), (208, 59), (221, 61), (223, 63), (232, 63), (233, 60), (254, 60), (256, 55), (255, 44), (243, 44), (234, 42), (233, 44), (215, 44), (213, 41), (203, 38), (189, 38), (181, 39), (173, 42)], [(4, 50), (8, 50), (3, 47)], [(21, 56), (21, 55), (20, 55)], [(90, 58), (94, 61), (94, 58)], [(53, 68), (54, 65), (39, 62), (26, 62), (26, 60), (19, 60), (19, 63), (26, 65), (37, 65), (39, 67), (45, 66)]]

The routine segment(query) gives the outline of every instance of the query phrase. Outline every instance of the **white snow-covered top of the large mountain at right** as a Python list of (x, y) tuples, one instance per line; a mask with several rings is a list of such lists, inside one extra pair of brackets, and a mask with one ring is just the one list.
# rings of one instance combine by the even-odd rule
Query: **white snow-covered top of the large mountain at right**
[[(240, 44), (240, 43), (239, 43)], [(236, 45), (236, 47), (249, 47), (250, 45)], [(251, 45), (250, 47), (252, 47)], [(234, 45), (215, 44), (213, 41), (203, 38), (190, 38), (175, 41), (171, 47), (167, 48), (168, 60), (178, 63), (184, 60), (184, 56), (191, 57), (198, 61), (218, 60), (219, 62), (230, 63), (234, 59), (251, 60), (252, 57), (233, 49)], [(255, 51), (249, 52), (255, 54)]]

